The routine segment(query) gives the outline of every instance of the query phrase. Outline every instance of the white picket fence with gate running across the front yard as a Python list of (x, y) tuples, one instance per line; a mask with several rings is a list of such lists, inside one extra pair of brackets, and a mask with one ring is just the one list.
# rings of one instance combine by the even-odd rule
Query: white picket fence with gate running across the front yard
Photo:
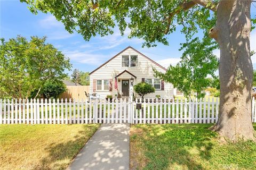
[[(137, 109), (139, 105), (141, 109)], [(253, 122), (256, 122), (255, 109), (253, 98)], [(113, 102), (0, 99), (0, 124), (215, 123), (218, 113), (218, 98), (189, 101), (161, 99), (155, 102), (154, 99), (132, 102), (122, 99)]]

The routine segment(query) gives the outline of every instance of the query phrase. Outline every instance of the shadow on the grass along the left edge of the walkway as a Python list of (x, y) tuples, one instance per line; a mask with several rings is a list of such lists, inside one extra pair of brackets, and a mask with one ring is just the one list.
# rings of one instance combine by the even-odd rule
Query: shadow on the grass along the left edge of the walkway
[(66, 169), (71, 160), (83, 148), (85, 143), (90, 139), (96, 126), (93, 124), (84, 125), (84, 130), (78, 131), (73, 140), (62, 143), (51, 143), (49, 148), (45, 148), (49, 152), (48, 157), (39, 160), (38, 166), (33, 169)]

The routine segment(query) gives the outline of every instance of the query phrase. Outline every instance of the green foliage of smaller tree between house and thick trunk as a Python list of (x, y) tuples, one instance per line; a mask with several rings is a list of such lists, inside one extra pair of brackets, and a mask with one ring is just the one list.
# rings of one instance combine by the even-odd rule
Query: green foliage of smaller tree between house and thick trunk
[(181, 61), (175, 66), (170, 65), (166, 73), (158, 72), (153, 68), (156, 77), (172, 83), (174, 88), (181, 91), (187, 98), (193, 91), (197, 98), (203, 98), (204, 90), (213, 84), (213, 80), (207, 76), (211, 75), (216, 79), (214, 72), (217, 71), (219, 64), (217, 56), (212, 54), (214, 47), (205, 48), (206, 44), (198, 38), (193, 39), (189, 45), (183, 44), (180, 50), (185, 49), (185, 52)]

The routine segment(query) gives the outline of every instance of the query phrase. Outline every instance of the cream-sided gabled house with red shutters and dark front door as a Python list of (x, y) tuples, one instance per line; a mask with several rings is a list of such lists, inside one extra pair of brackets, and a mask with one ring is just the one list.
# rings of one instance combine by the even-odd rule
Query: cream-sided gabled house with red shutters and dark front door
[[(156, 95), (173, 98), (173, 85), (155, 78), (152, 67), (166, 72), (163, 66), (129, 46), (90, 73), (90, 94), (105, 98), (118, 92), (122, 97), (129, 97), (130, 79), (133, 78), (133, 85), (145, 81), (155, 87), (155, 92), (145, 98), (155, 98)], [(118, 90), (115, 89), (115, 76)], [(135, 97), (139, 98), (139, 95), (135, 94)]]

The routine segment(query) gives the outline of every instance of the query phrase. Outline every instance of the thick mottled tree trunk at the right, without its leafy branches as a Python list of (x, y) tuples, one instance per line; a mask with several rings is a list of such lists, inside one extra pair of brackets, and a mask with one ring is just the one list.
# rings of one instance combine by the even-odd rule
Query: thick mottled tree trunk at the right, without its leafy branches
[(250, 7), (251, 1), (221, 1), (210, 31), (220, 47), (220, 114), (211, 129), (231, 141), (254, 139)]

